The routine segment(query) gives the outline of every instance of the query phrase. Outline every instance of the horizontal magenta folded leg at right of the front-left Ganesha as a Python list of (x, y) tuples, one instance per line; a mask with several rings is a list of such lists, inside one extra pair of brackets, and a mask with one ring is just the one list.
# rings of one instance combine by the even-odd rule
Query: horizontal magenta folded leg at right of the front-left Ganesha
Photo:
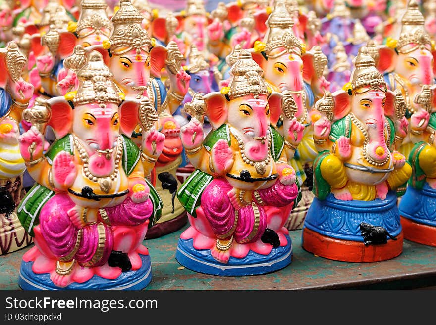
[(119, 205), (100, 209), (103, 220), (112, 226), (136, 226), (145, 222), (153, 213), (153, 203), (149, 198), (142, 203), (134, 203), (130, 197)]

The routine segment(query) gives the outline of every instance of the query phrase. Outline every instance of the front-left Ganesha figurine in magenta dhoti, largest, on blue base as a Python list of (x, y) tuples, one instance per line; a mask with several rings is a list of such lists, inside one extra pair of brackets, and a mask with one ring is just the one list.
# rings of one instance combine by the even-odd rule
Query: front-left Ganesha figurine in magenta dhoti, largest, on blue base
[[(141, 242), (154, 205), (140, 149), (129, 139), (137, 107), (123, 101), (99, 52), (77, 75), (77, 92), (29, 109), (33, 126), (20, 137), (37, 184), (18, 207), (36, 243), (23, 257), (19, 284), (142, 289), (151, 273)], [(57, 140), (43, 154), (45, 125)]]

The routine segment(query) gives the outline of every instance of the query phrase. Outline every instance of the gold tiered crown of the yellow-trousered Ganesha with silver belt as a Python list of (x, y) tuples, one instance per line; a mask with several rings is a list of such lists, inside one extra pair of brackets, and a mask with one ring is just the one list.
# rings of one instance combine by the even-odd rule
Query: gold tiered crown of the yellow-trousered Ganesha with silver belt
[(383, 75), (377, 70), (376, 63), (366, 46), (360, 47), (359, 53), (354, 58), (354, 70), (351, 73), (350, 83), (353, 93), (366, 93), (370, 90), (386, 92)]

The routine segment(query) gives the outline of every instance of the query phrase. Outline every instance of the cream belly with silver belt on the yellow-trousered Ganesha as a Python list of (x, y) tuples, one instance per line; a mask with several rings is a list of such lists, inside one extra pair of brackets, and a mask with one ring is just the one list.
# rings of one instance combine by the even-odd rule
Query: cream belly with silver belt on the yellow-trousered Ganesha
[(351, 158), (344, 163), (347, 177), (354, 183), (377, 185), (382, 183), (392, 171), (392, 158), (382, 166), (374, 166), (365, 160), (362, 149), (353, 150)]

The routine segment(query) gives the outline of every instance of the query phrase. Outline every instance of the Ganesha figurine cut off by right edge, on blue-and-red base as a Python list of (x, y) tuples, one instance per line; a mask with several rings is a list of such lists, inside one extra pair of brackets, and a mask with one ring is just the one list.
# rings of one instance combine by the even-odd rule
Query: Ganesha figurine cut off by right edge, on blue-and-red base
[(424, 85), (414, 102), (420, 106), (410, 117), (409, 155), (412, 177), (398, 206), (404, 238), (436, 246), (436, 86)]

